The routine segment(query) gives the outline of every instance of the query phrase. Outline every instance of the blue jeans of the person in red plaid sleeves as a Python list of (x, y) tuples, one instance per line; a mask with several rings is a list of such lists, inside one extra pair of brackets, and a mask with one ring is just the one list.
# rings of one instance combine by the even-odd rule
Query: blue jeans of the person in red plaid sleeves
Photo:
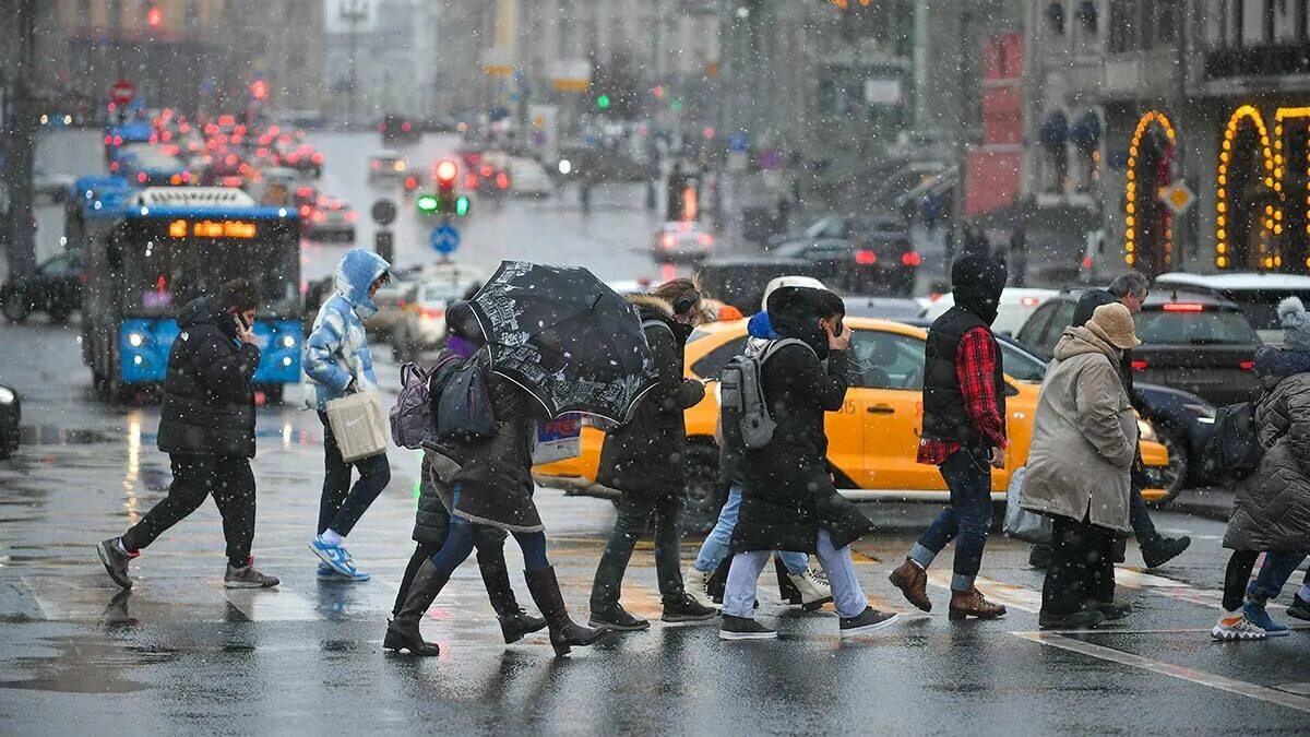
[[(909, 557), (927, 568), (942, 548), (956, 540), (951, 590), (968, 591), (982, 567), (982, 549), (992, 527), (992, 467), (981, 452), (960, 448), (942, 463), (941, 471), (951, 501), (920, 535)], [(828, 576), (831, 580), (832, 573)]]

